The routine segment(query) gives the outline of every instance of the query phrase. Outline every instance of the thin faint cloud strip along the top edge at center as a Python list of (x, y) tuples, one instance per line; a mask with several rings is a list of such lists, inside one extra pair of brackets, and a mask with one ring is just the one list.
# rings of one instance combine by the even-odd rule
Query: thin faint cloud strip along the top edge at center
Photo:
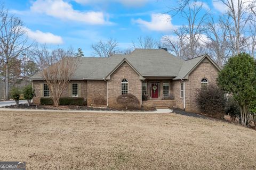
[(95, 3), (104, 3), (104, 2), (117, 2), (121, 3), (125, 6), (130, 6), (130, 7), (138, 7), (138, 6), (143, 6), (146, 3), (148, 3), (150, 0), (74, 0), (75, 2), (79, 4), (95, 4)]

